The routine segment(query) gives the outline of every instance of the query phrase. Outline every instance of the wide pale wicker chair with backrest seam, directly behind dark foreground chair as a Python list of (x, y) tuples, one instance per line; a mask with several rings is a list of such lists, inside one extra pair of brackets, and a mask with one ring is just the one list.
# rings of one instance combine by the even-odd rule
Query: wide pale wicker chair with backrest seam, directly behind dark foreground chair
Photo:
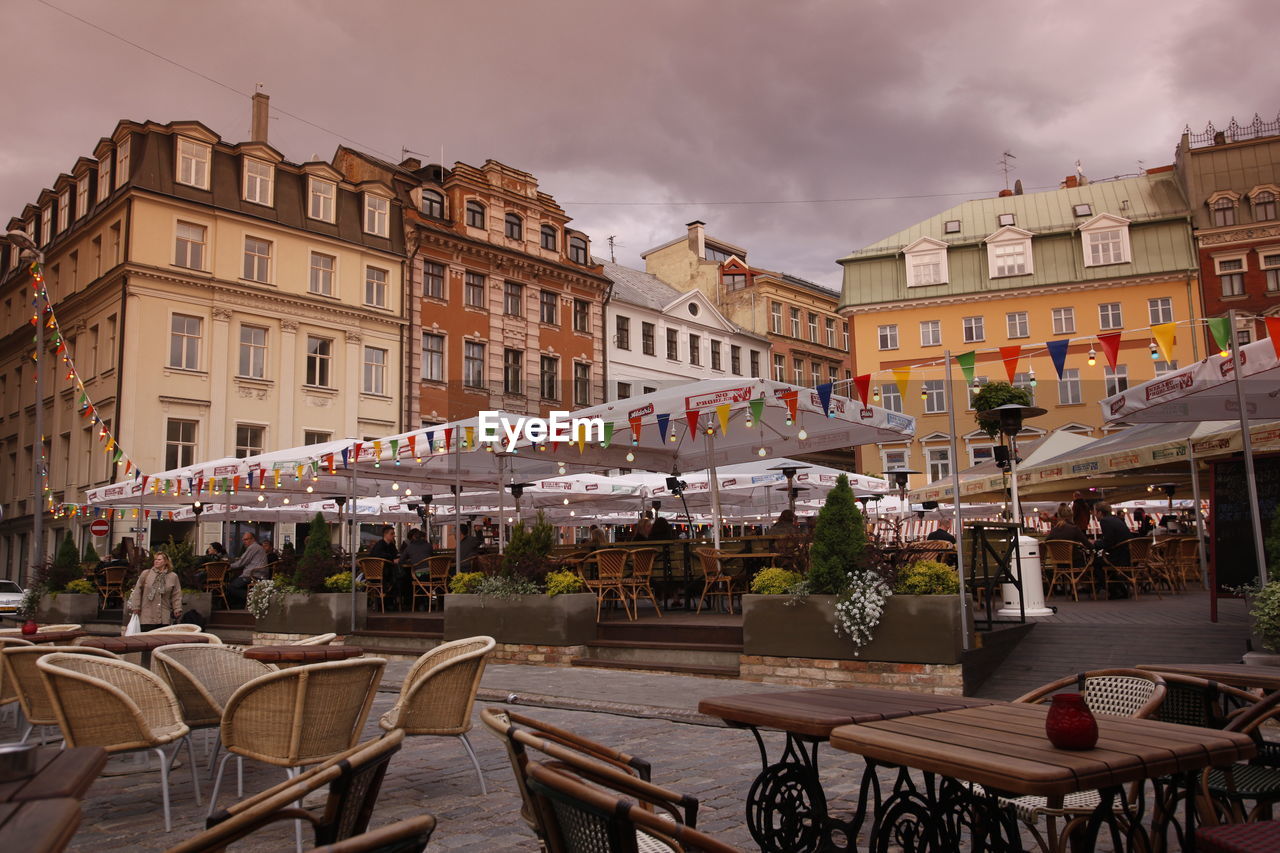
[(308, 663), (260, 675), (237, 689), (223, 710), (227, 754), (218, 763), (209, 811), (232, 756), (284, 767), (293, 779), (300, 767), (355, 747), (385, 666), (380, 657)]

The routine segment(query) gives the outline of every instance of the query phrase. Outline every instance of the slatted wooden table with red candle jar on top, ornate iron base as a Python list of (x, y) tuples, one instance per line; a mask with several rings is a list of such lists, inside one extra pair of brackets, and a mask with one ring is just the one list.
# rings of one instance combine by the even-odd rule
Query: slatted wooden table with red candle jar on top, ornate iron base
[[(916, 785), (909, 774), (900, 772), (886, 799), (877, 792), (869, 847), (910, 833), (925, 839), (916, 849), (960, 849), (961, 833), (968, 827), (974, 849), (1021, 849), (1018, 821), (1001, 807), (998, 797), (1041, 795), (1053, 806), (1066, 794), (1097, 789), (1100, 803), (1075, 839), (1079, 849), (1094, 848), (1103, 824), (1112, 841), (1124, 840), (1114, 812), (1116, 802), (1125, 804), (1129, 821), (1138, 826), (1134, 838), (1128, 839), (1130, 845), (1146, 849), (1149, 841), (1140, 829), (1146, 780), (1156, 788), (1157, 804), (1171, 803), (1153, 816), (1153, 834), (1162, 838), (1175, 816), (1179, 786), (1194, 792), (1196, 777), (1204, 767), (1229, 766), (1256, 752), (1243, 734), (1110, 716), (1098, 716), (1094, 749), (1056, 749), (1044, 736), (1047, 711), (1043, 704), (998, 703), (832, 731), (833, 747), (863, 756), (869, 766), (914, 767), (924, 774), (923, 785)], [(1172, 784), (1162, 779), (1169, 776)], [(1130, 783), (1138, 783), (1133, 802), (1124, 793)], [(1190, 849), (1193, 797), (1184, 799), (1184, 844)]]

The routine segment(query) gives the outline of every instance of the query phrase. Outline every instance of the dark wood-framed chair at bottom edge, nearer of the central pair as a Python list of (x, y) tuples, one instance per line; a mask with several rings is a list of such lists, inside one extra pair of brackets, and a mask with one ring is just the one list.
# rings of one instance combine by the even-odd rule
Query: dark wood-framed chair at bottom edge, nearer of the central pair
[(584, 783), (561, 762), (530, 761), (529, 792), (549, 853), (737, 853), (737, 848)]

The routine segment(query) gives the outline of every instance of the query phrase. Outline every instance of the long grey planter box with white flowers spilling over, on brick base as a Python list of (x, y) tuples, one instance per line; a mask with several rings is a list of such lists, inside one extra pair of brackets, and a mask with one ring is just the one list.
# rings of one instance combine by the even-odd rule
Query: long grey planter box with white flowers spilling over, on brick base
[(742, 596), (742, 653), (891, 663), (959, 663), (960, 596), (891, 596), (858, 654), (836, 634), (836, 597)]

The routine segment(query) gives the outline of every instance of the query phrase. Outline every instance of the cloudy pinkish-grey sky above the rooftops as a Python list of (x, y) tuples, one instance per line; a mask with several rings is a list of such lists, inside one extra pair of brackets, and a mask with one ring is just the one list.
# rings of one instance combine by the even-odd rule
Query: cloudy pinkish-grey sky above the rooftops
[[(3, 0), (0, 204), (120, 119), (532, 173), (608, 256), (685, 233), (840, 287), (836, 259), (1009, 182), (1172, 161), (1280, 111), (1274, 0)], [(105, 32), (104, 32), (105, 31)], [(128, 44), (132, 42), (132, 44)]]

